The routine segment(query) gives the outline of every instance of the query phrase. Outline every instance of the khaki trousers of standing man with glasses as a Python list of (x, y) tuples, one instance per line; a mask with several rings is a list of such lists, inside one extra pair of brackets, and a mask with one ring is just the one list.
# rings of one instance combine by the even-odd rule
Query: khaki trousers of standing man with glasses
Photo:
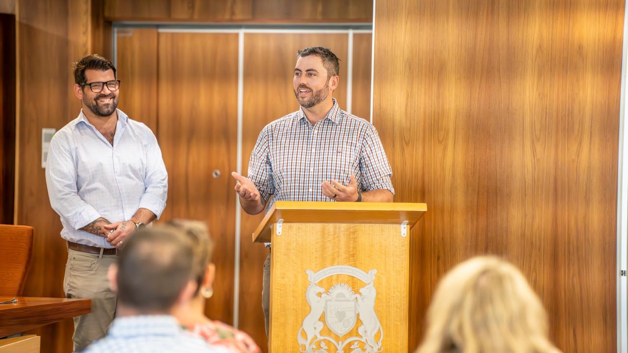
[(63, 291), (66, 298), (92, 300), (92, 312), (74, 318), (74, 350), (85, 349), (107, 334), (116, 314), (116, 293), (109, 289), (107, 269), (116, 255), (82, 253), (68, 249)]

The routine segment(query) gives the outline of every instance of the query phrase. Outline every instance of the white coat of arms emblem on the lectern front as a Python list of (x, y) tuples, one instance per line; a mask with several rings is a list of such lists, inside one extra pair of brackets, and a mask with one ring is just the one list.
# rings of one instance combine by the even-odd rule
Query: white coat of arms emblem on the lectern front
[[(303, 353), (337, 353), (344, 352), (349, 347), (350, 353), (376, 353), (382, 351), (384, 332), (375, 313), (376, 269), (365, 273), (352, 266), (331, 266), (317, 273), (306, 271), (310, 285), (305, 298), (310, 305), (310, 313), (303, 319), (301, 329), (297, 334), (300, 351)], [(329, 290), (318, 286), (317, 283), (334, 274), (347, 274), (358, 278), (365, 283), (357, 293), (347, 283), (336, 283)], [(320, 320), (325, 314), (327, 328), (340, 337), (336, 340), (330, 335), (322, 335), (325, 325)], [(361, 325), (357, 332), (360, 337), (347, 337), (357, 322)]]

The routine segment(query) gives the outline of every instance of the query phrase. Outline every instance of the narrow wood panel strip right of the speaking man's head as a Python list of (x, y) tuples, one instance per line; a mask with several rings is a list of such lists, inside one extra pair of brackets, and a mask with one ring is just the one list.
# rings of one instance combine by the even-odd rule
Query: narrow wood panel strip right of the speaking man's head
[(371, 33), (354, 33), (351, 114), (371, 119)]

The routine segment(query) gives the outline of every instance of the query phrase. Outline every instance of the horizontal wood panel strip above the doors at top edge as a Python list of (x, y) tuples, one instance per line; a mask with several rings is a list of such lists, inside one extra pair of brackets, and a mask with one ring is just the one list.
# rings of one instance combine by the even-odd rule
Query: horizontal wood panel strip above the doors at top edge
[(110, 21), (371, 22), (372, 0), (104, 0)]

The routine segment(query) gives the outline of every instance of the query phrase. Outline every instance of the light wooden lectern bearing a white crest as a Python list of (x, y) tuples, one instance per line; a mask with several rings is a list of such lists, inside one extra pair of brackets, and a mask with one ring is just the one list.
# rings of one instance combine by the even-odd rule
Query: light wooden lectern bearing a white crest
[(409, 229), (425, 204), (281, 202), (271, 242), (270, 352), (408, 352)]

